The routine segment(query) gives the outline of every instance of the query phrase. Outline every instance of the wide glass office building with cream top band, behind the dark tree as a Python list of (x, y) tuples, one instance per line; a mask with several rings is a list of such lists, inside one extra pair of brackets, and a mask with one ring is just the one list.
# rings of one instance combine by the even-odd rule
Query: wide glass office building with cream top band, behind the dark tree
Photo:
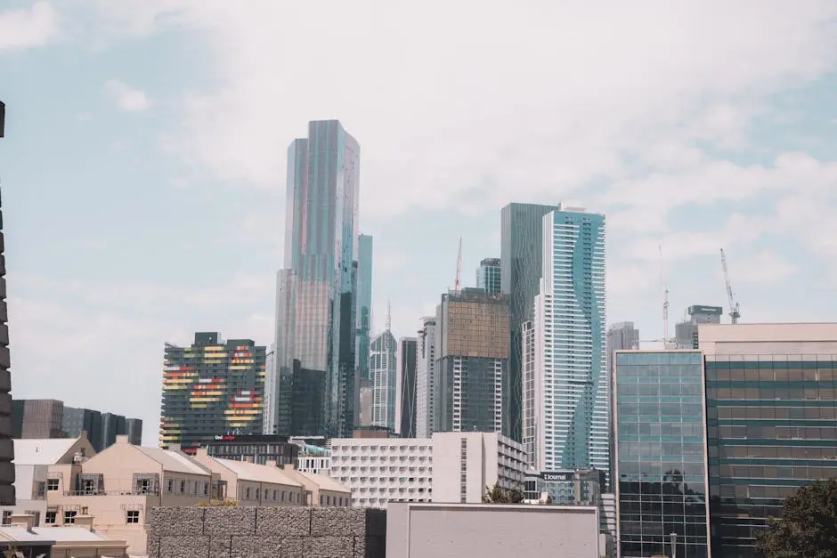
[(704, 324), (712, 555), (755, 556), (784, 499), (837, 477), (837, 324)]

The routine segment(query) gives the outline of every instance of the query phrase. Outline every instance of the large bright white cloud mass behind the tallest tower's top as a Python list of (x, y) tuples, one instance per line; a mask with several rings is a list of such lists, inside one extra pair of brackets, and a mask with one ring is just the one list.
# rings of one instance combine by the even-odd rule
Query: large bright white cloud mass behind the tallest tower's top
[(694, 142), (741, 149), (761, 101), (837, 55), (837, 4), (825, 1), (661, 0), (606, 17), (534, 0), (102, 5), (111, 21), (139, 21), (123, 25), (132, 32), (198, 30), (215, 62), (218, 85), (186, 98), (169, 148), (275, 188), (277, 154), (305, 122), (339, 117), (362, 145), (365, 218), (589, 198), (589, 181), (629, 179), (637, 161), (695, 165)]

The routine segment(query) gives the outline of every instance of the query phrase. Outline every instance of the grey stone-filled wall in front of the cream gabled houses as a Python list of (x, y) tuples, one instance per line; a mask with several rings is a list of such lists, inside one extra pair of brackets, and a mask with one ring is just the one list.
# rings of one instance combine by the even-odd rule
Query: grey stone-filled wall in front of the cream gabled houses
[(353, 507), (154, 507), (149, 558), (385, 558), (386, 512)]

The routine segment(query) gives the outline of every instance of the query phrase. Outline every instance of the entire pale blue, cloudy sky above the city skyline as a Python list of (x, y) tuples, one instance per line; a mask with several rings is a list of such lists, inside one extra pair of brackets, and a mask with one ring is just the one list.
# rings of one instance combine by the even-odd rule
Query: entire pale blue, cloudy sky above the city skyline
[[(837, 318), (837, 3), (0, 0), (12, 393), (144, 420), (165, 342), (272, 342), (286, 150), (361, 144), (373, 328), (411, 336), (500, 209), (605, 214), (607, 316)], [(662, 247), (662, 265), (660, 248)]]

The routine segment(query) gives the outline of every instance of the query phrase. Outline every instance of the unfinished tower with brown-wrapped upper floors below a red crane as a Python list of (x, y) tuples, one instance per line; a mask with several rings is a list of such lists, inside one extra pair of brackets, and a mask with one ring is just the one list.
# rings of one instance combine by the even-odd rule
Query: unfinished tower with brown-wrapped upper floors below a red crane
[(508, 296), (464, 288), (436, 310), (433, 432), (501, 432)]

